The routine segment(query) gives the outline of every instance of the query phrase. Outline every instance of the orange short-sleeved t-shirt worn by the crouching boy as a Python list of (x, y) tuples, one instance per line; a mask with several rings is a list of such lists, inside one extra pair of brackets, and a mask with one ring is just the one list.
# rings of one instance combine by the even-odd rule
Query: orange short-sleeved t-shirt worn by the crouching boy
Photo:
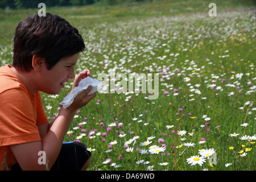
[(10, 68), (0, 67), (0, 170), (17, 163), (10, 145), (41, 140), (38, 126), (48, 122), (40, 92), (32, 96)]

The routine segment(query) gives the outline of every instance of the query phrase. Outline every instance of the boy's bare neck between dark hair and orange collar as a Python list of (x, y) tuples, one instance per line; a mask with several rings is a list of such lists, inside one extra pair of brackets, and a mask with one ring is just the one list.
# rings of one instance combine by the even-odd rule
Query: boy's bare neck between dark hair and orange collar
[(29, 72), (21, 72), (18, 69), (11, 67), (11, 70), (19, 77), (32, 96), (38, 92), (38, 89), (36, 89), (35, 74), (33, 69)]

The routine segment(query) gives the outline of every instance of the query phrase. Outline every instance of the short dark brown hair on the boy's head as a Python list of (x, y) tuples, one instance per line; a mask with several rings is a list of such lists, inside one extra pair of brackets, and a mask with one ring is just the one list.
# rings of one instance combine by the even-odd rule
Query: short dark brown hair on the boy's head
[(14, 37), (13, 67), (30, 71), (32, 57), (46, 59), (51, 69), (63, 57), (75, 55), (85, 49), (84, 39), (77, 28), (58, 15), (29, 16), (16, 27)]

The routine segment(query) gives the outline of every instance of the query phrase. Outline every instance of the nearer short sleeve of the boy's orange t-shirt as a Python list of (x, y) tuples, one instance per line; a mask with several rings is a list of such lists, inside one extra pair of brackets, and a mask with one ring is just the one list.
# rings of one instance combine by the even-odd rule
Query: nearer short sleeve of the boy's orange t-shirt
[(23, 88), (0, 94), (0, 146), (40, 140), (37, 114), (30, 96)]

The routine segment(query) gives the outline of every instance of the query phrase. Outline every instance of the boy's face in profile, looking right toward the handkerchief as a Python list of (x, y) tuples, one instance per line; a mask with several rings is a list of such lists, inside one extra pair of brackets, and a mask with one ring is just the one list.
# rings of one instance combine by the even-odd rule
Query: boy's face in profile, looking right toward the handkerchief
[(76, 53), (73, 56), (61, 59), (52, 69), (47, 70), (46, 65), (42, 70), (43, 78), (40, 81), (40, 90), (48, 94), (59, 94), (61, 88), (64, 88), (65, 82), (68, 82), (68, 79), (75, 78), (75, 65), (79, 53)]

